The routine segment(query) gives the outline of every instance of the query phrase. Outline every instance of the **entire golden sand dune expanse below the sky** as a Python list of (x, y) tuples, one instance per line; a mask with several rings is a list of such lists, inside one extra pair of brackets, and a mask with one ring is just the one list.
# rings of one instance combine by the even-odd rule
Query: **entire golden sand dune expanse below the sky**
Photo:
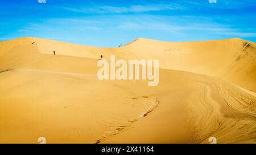
[[(159, 84), (101, 81), (100, 55), (158, 59)], [(255, 92), (256, 43), (238, 38), (121, 48), (2, 41), (0, 143), (256, 143)]]

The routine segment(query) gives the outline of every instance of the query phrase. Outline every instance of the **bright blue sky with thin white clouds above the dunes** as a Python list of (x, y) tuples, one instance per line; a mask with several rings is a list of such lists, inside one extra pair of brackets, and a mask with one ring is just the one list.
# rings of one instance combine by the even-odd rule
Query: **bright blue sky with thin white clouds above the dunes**
[(255, 0), (9, 0), (0, 3), (0, 40), (46, 39), (118, 47), (138, 37), (256, 42)]

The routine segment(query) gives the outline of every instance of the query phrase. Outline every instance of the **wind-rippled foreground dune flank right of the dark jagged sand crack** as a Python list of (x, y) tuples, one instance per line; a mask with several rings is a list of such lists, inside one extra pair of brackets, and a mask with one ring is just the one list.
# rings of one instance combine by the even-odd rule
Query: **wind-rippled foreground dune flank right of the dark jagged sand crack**
[(184, 99), (176, 90), (160, 95), (151, 115), (102, 143), (210, 143), (209, 137), (217, 143), (256, 143), (256, 96), (219, 79), (193, 80)]

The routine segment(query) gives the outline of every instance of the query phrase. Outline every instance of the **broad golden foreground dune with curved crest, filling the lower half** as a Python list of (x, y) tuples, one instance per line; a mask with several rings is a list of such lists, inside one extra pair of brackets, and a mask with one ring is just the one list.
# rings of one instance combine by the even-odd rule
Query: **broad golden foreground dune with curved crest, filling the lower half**
[[(48, 143), (208, 143), (211, 136), (217, 143), (255, 143), (254, 95), (216, 78), (160, 72), (154, 88), (92, 75), (1, 73), (1, 103), (8, 104), (0, 108), (0, 143), (36, 143), (40, 136)], [(19, 87), (3, 85), (10, 81)]]

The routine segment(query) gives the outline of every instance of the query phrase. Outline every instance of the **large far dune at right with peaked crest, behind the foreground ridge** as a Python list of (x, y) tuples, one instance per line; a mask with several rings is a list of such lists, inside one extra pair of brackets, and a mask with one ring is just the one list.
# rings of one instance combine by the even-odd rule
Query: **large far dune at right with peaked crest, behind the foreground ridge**
[(256, 44), (250, 41), (234, 38), (170, 43), (139, 39), (127, 49), (135, 49), (138, 57), (159, 59), (160, 68), (214, 76), (256, 91)]

